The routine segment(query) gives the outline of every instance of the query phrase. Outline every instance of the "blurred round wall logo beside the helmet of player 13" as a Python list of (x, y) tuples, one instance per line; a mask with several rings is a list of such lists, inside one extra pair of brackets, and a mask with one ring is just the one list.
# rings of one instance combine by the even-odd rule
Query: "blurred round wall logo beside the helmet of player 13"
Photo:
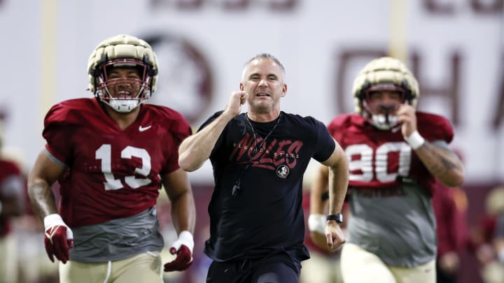
[(179, 111), (193, 124), (211, 104), (213, 82), (206, 58), (195, 45), (173, 34), (145, 36), (158, 58), (158, 86), (148, 103)]

